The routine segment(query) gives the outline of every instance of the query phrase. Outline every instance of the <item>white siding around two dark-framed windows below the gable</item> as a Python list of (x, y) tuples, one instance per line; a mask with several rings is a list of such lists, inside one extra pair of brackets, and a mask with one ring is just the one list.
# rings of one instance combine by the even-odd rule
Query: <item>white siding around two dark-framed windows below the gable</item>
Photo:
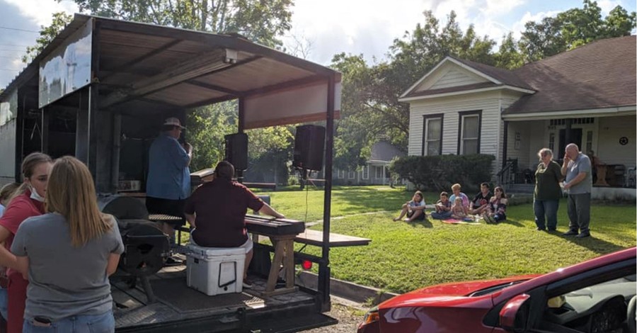
[(460, 111), (482, 111), (481, 154), (497, 154), (500, 133), (500, 93), (498, 91), (425, 99), (411, 103), (408, 154), (423, 152), (423, 116), (444, 114), (442, 122), (442, 154), (458, 153), (458, 121)]

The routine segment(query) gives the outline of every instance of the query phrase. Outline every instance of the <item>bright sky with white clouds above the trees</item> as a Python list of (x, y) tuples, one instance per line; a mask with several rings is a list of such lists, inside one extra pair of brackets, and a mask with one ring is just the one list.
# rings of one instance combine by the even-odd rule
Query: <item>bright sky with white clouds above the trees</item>
[[(292, 30), (283, 38), (288, 50), (318, 64), (328, 65), (340, 52), (362, 54), (370, 64), (386, 58), (396, 38), (424, 22), (430, 10), (446, 22), (450, 11), (463, 30), (473, 24), (478, 35), (496, 41), (512, 32), (520, 38), (524, 23), (575, 7), (581, 0), (294, 0)], [(636, 11), (634, 0), (597, 0), (605, 16), (615, 6)], [(76, 13), (70, 0), (0, 0), (0, 87), (7, 86), (26, 66), (26, 47), (35, 45), (38, 30), (48, 26), (52, 13)], [(304, 53), (304, 54), (303, 54)]]

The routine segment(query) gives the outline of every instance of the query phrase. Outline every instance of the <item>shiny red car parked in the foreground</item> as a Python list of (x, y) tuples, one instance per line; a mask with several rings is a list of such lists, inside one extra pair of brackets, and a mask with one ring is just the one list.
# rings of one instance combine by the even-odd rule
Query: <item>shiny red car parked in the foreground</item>
[(534, 276), (445, 283), (372, 308), (358, 333), (635, 333), (636, 248)]

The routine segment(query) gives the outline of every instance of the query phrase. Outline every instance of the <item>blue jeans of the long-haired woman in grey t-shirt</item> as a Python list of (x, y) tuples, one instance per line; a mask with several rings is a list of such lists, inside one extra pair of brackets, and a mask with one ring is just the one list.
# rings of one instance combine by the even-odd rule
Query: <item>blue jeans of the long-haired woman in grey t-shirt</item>
[(77, 315), (56, 320), (50, 326), (42, 327), (33, 324), (33, 320), (24, 320), (23, 333), (113, 333), (115, 318), (113, 312), (102, 315)]

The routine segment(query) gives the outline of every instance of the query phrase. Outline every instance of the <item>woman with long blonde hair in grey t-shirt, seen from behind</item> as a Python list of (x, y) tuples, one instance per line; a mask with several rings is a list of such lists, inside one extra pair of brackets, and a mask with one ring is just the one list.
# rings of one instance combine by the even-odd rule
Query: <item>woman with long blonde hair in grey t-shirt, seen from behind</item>
[(86, 165), (57, 159), (46, 210), (25, 220), (11, 245), (17, 269), (30, 281), (23, 331), (114, 332), (108, 276), (124, 245), (115, 218), (98, 208)]

